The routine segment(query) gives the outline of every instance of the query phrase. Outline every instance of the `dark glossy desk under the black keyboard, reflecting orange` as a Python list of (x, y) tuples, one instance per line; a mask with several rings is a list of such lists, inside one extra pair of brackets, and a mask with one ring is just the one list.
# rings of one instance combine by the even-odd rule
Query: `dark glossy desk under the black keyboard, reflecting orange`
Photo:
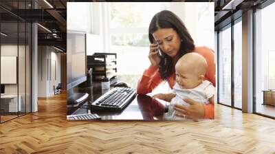
[[(92, 101), (104, 92), (100, 87), (94, 87)], [(83, 107), (79, 107), (72, 114), (97, 113), (102, 120), (162, 120), (165, 109), (164, 101), (157, 101), (147, 95), (137, 95), (123, 111), (91, 111), (90, 104), (89, 101), (85, 102)]]

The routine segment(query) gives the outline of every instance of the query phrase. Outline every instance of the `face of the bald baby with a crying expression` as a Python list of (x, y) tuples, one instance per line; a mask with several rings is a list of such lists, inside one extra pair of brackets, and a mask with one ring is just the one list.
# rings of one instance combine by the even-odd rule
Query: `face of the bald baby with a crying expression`
[(176, 82), (181, 89), (192, 89), (197, 87), (201, 83), (201, 79), (197, 74), (192, 74), (190, 70), (177, 68), (175, 69)]

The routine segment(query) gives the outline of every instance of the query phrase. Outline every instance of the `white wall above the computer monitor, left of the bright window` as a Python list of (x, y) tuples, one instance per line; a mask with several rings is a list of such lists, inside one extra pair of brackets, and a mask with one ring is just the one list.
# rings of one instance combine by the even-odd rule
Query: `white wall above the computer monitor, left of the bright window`
[[(85, 32), (87, 35), (87, 55), (107, 51), (103, 45), (106, 39), (102, 30), (102, 3), (67, 3), (67, 31)], [(94, 13), (96, 12), (96, 13)], [(106, 43), (105, 43), (106, 44)]]

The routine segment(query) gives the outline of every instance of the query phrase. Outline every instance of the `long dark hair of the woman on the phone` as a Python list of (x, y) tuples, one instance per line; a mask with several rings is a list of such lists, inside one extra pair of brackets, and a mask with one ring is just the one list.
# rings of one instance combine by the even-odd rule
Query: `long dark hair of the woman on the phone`
[[(149, 40), (151, 43), (154, 42), (153, 33), (160, 28), (173, 28), (173, 30), (179, 34), (181, 45), (179, 47), (177, 58), (180, 58), (184, 54), (194, 50), (195, 45), (192, 37), (181, 19), (179, 19), (179, 17), (177, 17), (177, 15), (173, 12), (163, 10), (155, 14), (149, 26)], [(160, 51), (162, 52), (162, 56), (159, 63), (159, 73), (161, 78), (166, 80), (168, 76), (175, 72), (175, 65), (173, 65), (173, 61), (170, 56), (165, 54), (162, 50)]]

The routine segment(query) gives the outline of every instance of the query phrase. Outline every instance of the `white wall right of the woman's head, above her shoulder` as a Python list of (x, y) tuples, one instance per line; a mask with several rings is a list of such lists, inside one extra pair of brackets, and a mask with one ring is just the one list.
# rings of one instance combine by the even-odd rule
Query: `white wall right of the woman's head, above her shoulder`
[(186, 25), (195, 45), (214, 49), (214, 2), (173, 2), (170, 7)]

